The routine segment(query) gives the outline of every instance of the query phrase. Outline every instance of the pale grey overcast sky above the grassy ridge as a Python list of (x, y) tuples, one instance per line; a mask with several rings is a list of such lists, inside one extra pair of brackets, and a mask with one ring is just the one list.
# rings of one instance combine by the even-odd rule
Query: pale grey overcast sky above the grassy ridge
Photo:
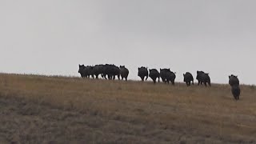
[(0, 0), (0, 71), (78, 74), (78, 64), (138, 66), (256, 84), (254, 0)]

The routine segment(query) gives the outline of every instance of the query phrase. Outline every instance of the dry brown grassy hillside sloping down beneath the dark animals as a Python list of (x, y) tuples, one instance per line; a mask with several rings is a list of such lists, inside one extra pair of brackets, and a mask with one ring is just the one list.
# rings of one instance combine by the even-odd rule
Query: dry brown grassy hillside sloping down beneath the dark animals
[(0, 143), (256, 143), (256, 87), (0, 74)]

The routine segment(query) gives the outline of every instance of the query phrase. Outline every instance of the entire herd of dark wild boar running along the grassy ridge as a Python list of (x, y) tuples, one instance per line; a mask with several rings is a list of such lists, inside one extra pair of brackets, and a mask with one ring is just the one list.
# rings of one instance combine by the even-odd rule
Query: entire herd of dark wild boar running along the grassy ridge
[[(81, 74), (82, 78), (98, 78), (99, 75), (102, 76), (102, 78), (105, 79), (115, 79), (115, 76), (120, 79), (120, 76), (123, 79), (127, 81), (129, 70), (126, 68), (126, 66), (115, 66), (110, 64), (105, 65), (95, 65), (95, 66), (84, 66), (79, 65), (78, 73)], [(174, 85), (174, 81), (176, 78), (176, 73), (171, 71), (170, 69), (160, 69), (160, 72), (157, 69), (149, 69), (147, 67), (141, 66), (138, 67), (138, 77), (142, 79), (142, 81), (147, 80), (148, 77), (150, 77), (154, 84), (156, 83), (157, 79), (158, 82), (160, 82), (160, 78), (162, 79), (162, 82), (167, 82), (168, 84), (171, 82), (172, 85)], [(193, 75), (190, 74), (190, 72), (186, 72), (186, 74), (183, 74), (183, 82), (186, 82), (186, 86), (190, 86), (191, 83), (194, 85), (194, 78)], [(210, 76), (208, 73), (205, 73), (203, 71), (197, 71), (197, 77), (198, 85), (204, 84), (205, 86), (210, 86)], [(235, 76), (231, 74), (229, 76), (229, 84), (231, 86), (231, 92), (234, 96), (235, 100), (239, 99), (240, 95), (240, 87), (239, 87), (239, 80), (238, 76)]]

